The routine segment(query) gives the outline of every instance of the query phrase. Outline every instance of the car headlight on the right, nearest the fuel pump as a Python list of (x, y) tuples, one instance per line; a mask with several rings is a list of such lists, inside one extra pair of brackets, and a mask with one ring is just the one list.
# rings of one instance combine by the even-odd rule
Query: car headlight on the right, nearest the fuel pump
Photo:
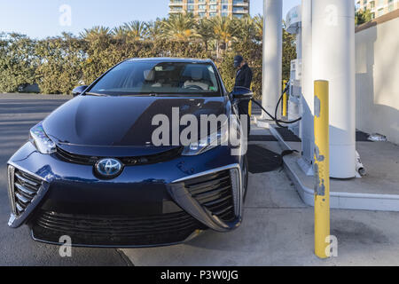
[[(230, 120), (227, 120), (225, 123), (223, 123), (219, 130), (211, 133), (209, 136), (207, 136), (207, 138), (202, 138), (199, 142), (191, 143), (189, 146), (184, 146), (182, 155), (195, 156), (205, 153), (216, 146), (229, 146), (231, 140), (237, 140), (237, 138), (240, 136), (240, 130), (238, 127), (239, 122), (235, 116), (231, 116)], [(232, 144), (232, 146), (237, 146), (234, 145), (234, 143)]]

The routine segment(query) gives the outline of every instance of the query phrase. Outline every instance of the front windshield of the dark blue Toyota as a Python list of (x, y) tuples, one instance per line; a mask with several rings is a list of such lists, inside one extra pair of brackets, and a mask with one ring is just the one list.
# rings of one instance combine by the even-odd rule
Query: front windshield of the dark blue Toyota
[(89, 95), (220, 96), (215, 67), (208, 63), (125, 61), (96, 83)]

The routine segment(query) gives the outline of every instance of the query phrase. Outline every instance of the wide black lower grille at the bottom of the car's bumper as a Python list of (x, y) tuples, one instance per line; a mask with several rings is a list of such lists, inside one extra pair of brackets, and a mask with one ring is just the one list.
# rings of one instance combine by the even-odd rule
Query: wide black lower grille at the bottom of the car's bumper
[(31, 222), (36, 240), (59, 243), (63, 235), (81, 246), (155, 246), (186, 240), (205, 229), (186, 212), (151, 217), (85, 216), (40, 211)]

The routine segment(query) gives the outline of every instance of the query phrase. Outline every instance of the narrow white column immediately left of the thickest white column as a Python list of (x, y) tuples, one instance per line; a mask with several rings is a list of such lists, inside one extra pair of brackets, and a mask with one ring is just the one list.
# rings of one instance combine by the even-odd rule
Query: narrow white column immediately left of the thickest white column
[(312, 76), (312, 0), (302, 0), (302, 159), (313, 162), (313, 76)]

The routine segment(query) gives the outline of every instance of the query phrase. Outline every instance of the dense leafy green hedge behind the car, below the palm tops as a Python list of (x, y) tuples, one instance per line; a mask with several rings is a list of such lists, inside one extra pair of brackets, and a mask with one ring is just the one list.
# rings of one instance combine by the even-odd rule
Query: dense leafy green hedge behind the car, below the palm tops
[[(294, 57), (293, 39), (285, 41), (283, 77), (289, 75), (289, 62)], [(215, 59), (228, 90), (232, 89), (235, 54), (247, 59), (254, 70), (253, 90), (257, 98), (262, 94), (262, 43), (233, 43)], [(108, 68), (129, 58), (178, 57), (212, 58), (202, 42), (171, 40), (123, 41), (111, 36), (86, 41), (80, 37), (63, 34), (43, 40), (27, 36), (0, 35), (0, 91), (19, 91), (20, 86), (37, 83), (46, 94), (70, 94), (79, 84), (90, 84)]]

